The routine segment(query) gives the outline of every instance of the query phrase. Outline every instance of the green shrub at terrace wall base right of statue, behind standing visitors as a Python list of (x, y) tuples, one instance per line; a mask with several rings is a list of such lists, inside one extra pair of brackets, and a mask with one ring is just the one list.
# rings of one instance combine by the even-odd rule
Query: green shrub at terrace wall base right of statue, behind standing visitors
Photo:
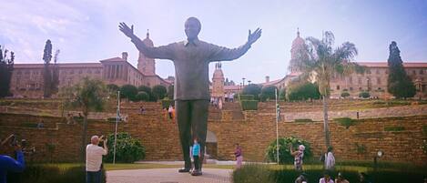
[[(300, 145), (305, 146), (304, 150), (304, 158), (311, 158), (311, 148), (310, 143), (307, 141), (296, 138), (296, 137), (280, 137), (279, 138), (279, 158), (280, 158), (280, 164), (285, 163), (293, 163), (293, 157), (290, 155), (290, 146), (292, 148), (296, 148)], [(269, 144), (269, 147), (267, 147), (267, 158), (272, 162), (277, 162), (277, 150), (276, 150), (276, 139), (271, 141)]]

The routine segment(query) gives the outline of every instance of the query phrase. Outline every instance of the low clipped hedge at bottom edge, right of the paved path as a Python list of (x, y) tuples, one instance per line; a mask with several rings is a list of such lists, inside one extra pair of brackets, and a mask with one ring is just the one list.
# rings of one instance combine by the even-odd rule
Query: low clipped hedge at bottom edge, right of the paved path
[(231, 177), (234, 183), (273, 183), (271, 173), (265, 165), (249, 164), (234, 170)]

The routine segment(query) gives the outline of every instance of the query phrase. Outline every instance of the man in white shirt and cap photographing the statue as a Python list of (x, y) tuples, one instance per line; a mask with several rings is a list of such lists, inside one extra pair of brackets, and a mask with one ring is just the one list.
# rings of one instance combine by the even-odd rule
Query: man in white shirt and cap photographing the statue
[(91, 144), (86, 146), (86, 183), (101, 182), (102, 156), (108, 152), (107, 138), (104, 140), (104, 148), (97, 146), (102, 138), (93, 136), (90, 138)]

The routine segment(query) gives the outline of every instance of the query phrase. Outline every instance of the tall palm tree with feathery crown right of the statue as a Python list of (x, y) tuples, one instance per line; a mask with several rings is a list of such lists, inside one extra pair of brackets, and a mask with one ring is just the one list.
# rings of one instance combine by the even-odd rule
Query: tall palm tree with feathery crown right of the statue
[(335, 37), (330, 31), (324, 32), (322, 39), (307, 37), (304, 50), (299, 53), (299, 68), (302, 77), (319, 84), (323, 98), (323, 120), (326, 147), (330, 147), (327, 98), (330, 97), (330, 79), (332, 76), (349, 76), (353, 72), (363, 73), (364, 67), (351, 62), (358, 51), (356, 46), (345, 42), (332, 48)]

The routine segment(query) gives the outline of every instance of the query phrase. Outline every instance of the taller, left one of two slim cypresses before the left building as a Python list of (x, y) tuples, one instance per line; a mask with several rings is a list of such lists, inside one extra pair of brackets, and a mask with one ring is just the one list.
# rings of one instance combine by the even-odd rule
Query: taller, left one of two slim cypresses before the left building
[(45, 67), (43, 69), (44, 90), (43, 97), (52, 96), (52, 72), (50, 70), (50, 60), (52, 59), (52, 43), (49, 39), (46, 41), (45, 50), (43, 53), (43, 60)]

